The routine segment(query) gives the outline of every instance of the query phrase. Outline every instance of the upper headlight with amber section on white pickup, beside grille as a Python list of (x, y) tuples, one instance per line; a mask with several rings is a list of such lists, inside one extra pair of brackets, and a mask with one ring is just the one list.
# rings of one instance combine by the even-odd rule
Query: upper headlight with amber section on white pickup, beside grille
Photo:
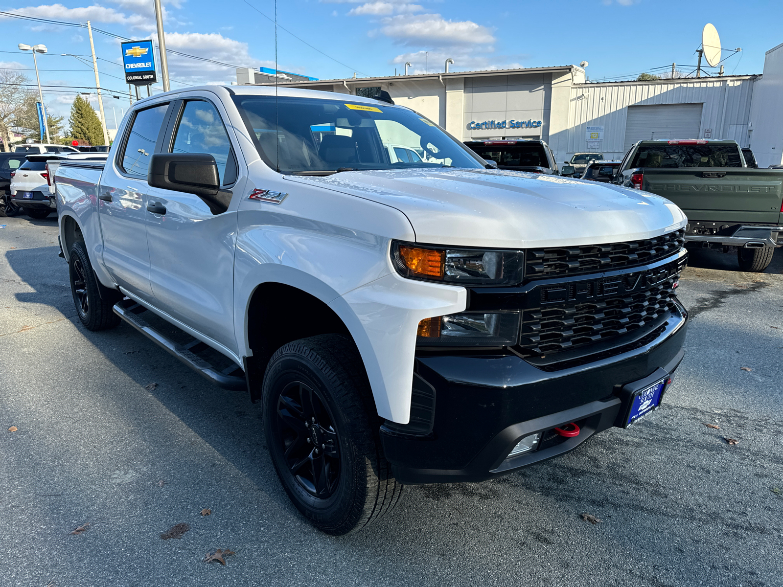
[(521, 250), (430, 247), (397, 241), (391, 244), (391, 261), (400, 275), (444, 283), (518, 285), (524, 260)]

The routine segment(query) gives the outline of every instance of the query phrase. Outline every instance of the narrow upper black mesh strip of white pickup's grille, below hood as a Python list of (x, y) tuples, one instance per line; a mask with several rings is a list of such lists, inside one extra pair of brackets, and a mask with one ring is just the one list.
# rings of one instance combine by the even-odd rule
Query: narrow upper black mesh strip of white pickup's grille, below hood
[(645, 265), (668, 257), (684, 243), (685, 229), (680, 229), (626, 243), (529, 249), (525, 257), (525, 278), (544, 279)]

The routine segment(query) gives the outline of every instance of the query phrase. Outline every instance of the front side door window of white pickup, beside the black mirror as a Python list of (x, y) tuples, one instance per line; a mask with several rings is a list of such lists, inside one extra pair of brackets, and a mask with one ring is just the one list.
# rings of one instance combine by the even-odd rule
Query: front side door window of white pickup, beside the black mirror
[(218, 164), (222, 185), (236, 182), (236, 160), (229, 135), (211, 103), (192, 100), (185, 104), (171, 153), (209, 153)]

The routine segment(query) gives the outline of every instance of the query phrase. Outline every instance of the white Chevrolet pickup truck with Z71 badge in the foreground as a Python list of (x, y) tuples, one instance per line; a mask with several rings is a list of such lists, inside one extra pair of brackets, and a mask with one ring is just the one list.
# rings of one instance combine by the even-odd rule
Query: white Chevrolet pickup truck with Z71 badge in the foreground
[(683, 357), (686, 218), (660, 196), (492, 168), (388, 95), (189, 88), (135, 103), (117, 137), (55, 174), (81, 322), (124, 319), (247, 389), (330, 534), (402, 484), (627, 427)]

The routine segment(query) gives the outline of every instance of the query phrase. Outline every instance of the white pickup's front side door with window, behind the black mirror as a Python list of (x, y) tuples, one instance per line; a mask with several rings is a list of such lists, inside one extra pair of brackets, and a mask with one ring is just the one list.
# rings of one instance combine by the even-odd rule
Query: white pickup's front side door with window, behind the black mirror
[[(222, 106), (216, 104), (200, 97), (175, 102), (161, 153), (211, 154), (218, 163), (223, 189), (232, 189), (238, 178), (236, 155), (223, 124)], [(153, 303), (172, 318), (236, 352), (236, 206), (215, 215), (199, 196), (148, 189), (146, 232)]]

